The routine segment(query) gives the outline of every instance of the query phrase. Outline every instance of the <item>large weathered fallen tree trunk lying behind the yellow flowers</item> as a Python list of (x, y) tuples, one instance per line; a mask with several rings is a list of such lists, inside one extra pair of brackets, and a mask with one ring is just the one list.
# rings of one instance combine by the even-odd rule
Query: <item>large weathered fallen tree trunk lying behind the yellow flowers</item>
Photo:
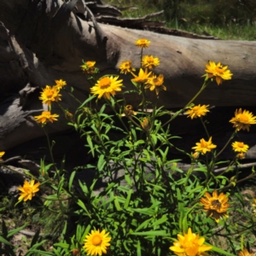
[[(77, 2), (0, 2), (0, 150), (44, 134), (32, 115), (45, 108), (38, 96), (46, 84), (64, 79), (81, 101), (86, 99), (90, 84), (79, 67), (82, 60), (96, 61), (102, 75), (119, 73), (120, 63), (126, 60), (131, 60), (138, 71), (141, 49), (134, 43), (139, 38), (151, 41), (144, 54), (160, 58), (155, 73), (165, 77), (167, 90), (160, 92), (165, 108), (181, 108), (189, 102), (201, 88), (209, 60), (228, 65), (234, 76), (219, 86), (210, 84), (196, 102), (218, 107), (255, 105), (256, 42), (181, 38), (106, 24), (96, 26), (73, 14)], [(132, 88), (131, 76), (120, 78), (126, 90)], [(154, 100), (155, 95), (148, 93), (148, 97)], [(139, 103), (134, 96), (128, 96), (126, 102), (134, 108)], [(78, 107), (65, 92), (61, 105), (70, 112)], [(51, 133), (67, 130), (61, 121), (48, 126)]]

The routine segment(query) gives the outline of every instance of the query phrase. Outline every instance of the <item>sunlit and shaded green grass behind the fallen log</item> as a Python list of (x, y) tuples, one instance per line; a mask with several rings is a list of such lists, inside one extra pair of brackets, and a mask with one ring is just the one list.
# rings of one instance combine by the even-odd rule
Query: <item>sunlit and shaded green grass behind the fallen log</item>
[[(166, 0), (167, 1), (167, 0)], [(169, 0), (170, 3), (175, 0)], [(222, 1), (190, 0), (177, 1), (168, 15), (154, 18), (154, 20), (169, 21), (166, 27), (193, 32), (199, 35), (210, 34), (224, 40), (256, 40), (256, 20), (253, 14), (256, 12), (256, 1), (253, 4), (255, 10), (250, 10), (246, 5), (236, 6), (236, 0), (228, 3)], [(224, 2), (224, 1), (223, 1)], [(105, 0), (104, 3), (117, 7), (135, 6), (137, 9), (125, 10), (123, 17), (142, 17), (164, 9), (165, 0)], [(255, 6), (254, 6), (255, 5)], [(254, 14), (255, 15), (255, 14)]]

